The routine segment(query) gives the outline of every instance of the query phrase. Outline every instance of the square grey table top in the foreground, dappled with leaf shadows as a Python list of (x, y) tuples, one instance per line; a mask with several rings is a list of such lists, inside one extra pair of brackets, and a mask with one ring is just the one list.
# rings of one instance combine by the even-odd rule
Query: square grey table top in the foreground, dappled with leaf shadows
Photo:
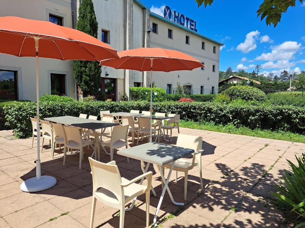
[(119, 150), (117, 154), (156, 165), (165, 165), (194, 152), (194, 150), (188, 148), (152, 142)]

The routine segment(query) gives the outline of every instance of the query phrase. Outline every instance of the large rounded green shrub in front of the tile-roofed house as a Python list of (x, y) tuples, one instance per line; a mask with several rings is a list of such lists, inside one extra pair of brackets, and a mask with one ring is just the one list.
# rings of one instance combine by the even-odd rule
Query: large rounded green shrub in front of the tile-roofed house
[(257, 100), (264, 101), (266, 100), (266, 95), (263, 91), (258, 88), (246, 85), (236, 85), (231, 86), (230, 88), (224, 91), (224, 94), (228, 95), (231, 100), (234, 99), (243, 99), (246, 101)]

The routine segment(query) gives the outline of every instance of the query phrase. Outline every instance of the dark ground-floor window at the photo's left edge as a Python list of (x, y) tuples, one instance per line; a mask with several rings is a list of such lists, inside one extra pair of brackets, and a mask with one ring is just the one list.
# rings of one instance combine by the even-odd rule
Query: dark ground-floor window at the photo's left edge
[(0, 70), (0, 97), (18, 99), (17, 71)]

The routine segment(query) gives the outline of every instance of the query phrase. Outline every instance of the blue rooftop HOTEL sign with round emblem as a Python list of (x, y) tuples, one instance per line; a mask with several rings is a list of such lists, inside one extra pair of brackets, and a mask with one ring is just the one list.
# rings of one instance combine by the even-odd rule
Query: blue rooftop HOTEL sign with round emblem
[(193, 19), (190, 19), (184, 16), (183, 14), (179, 14), (175, 10), (171, 11), (168, 6), (164, 7), (163, 14), (166, 19), (176, 22), (179, 25), (182, 25), (184, 27), (187, 27), (188, 29), (197, 32), (196, 21), (194, 21)]

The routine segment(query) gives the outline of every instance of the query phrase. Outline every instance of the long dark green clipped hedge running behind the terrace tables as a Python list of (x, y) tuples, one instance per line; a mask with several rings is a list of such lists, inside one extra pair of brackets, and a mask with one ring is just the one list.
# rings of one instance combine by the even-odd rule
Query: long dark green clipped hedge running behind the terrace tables
[[(293, 106), (254, 106), (213, 102), (154, 102), (154, 112), (176, 113), (181, 119), (233, 123), (251, 129), (286, 130), (304, 133), (305, 108)], [(30, 116), (36, 114), (35, 102), (12, 102), (4, 106), (7, 125), (18, 137), (31, 134)], [(129, 112), (149, 110), (149, 102), (40, 102), (40, 118), (51, 116), (78, 116), (80, 113), (99, 116), (100, 110)]]

